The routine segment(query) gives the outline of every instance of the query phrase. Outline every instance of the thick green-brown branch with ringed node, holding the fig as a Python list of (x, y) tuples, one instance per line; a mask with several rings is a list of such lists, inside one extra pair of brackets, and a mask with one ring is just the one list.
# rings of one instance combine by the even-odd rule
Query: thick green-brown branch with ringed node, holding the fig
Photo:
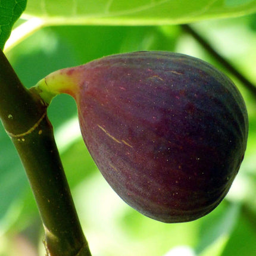
[(1, 50), (0, 118), (20, 155), (38, 204), (47, 255), (90, 256), (45, 102), (24, 88)]

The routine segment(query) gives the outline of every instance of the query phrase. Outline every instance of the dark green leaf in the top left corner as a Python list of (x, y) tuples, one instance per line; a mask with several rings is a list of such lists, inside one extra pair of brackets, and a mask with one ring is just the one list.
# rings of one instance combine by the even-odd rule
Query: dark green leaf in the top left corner
[(15, 21), (26, 8), (26, 0), (0, 0), (0, 48), (11, 35)]

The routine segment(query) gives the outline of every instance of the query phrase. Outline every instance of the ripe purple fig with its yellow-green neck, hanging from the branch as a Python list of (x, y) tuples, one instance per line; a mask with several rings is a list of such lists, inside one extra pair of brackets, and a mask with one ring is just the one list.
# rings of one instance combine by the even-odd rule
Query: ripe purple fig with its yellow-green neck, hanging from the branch
[[(176, 223), (221, 202), (245, 154), (248, 116), (233, 82), (198, 58), (131, 52), (49, 74), (38, 89), (77, 102), (86, 146), (127, 204)], [(48, 92), (47, 92), (48, 91)]]

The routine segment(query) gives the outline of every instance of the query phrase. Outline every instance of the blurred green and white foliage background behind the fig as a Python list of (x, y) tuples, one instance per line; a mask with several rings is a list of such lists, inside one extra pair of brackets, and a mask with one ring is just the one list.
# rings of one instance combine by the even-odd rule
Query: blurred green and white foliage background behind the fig
[[(20, 18), (15, 27), (24, 21), (24, 17)], [(255, 14), (201, 20), (191, 26), (256, 83)], [(248, 148), (230, 192), (216, 210), (190, 223), (160, 223), (137, 213), (113, 192), (82, 141), (74, 100), (68, 95), (55, 98), (48, 115), (93, 256), (255, 256), (256, 95), (179, 24), (120, 26), (117, 21), (115, 26), (46, 26), (8, 49), (6, 55), (21, 82), (29, 88), (60, 68), (140, 50), (192, 55), (230, 76), (248, 108)], [(44, 255), (43, 228), (35, 200), (17, 152), (2, 126), (0, 180), (0, 256)]]

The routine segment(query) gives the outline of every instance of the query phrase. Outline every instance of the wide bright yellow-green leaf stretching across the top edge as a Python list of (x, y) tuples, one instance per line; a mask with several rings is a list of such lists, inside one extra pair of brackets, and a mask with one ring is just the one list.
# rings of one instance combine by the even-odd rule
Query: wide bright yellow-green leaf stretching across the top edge
[(255, 13), (255, 0), (29, 0), (26, 14), (49, 24), (178, 24)]

